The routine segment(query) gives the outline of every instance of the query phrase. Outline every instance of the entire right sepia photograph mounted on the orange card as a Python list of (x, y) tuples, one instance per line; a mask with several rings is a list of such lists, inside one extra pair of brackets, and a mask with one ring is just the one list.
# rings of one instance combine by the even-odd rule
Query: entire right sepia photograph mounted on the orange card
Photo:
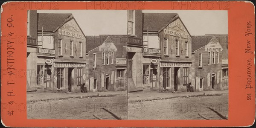
[(227, 11), (128, 14), (128, 119), (228, 119)]

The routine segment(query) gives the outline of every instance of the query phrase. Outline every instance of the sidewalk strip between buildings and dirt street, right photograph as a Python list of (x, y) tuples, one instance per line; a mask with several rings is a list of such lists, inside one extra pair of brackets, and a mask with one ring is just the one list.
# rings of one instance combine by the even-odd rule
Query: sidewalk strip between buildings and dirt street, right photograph
[(228, 90), (213, 90), (213, 91), (201, 91), (201, 92), (179, 92), (179, 93), (158, 93), (158, 92), (134, 92), (128, 93), (128, 101), (145, 101), (152, 99), (166, 99), (184, 96), (200, 96), (200, 95), (223, 95), (228, 94)]

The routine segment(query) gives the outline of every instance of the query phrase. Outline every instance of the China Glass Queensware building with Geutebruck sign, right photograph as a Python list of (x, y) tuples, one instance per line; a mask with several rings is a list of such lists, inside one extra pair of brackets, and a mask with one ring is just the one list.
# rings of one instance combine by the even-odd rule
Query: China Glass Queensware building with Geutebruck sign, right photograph
[(143, 13), (143, 90), (186, 91), (191, 36), (176, 13)]

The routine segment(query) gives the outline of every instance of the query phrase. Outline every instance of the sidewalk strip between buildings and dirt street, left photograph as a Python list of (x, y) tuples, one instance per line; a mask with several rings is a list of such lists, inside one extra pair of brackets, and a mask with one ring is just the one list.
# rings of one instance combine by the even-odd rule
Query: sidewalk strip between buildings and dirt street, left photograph
[(127, 96), (126, 91), (109, 91), (109, 92), (94, 92), (94, 93), (52, 93), (49, 92), (29, 92), (26, 94), (27, 102), (32, 101), (44, 101), (44, 100), (56, 100), (56, 99), (67, 99), (67, 98), (76, 98), (76, 97), (94, 97), (94, 96), (117, 96), (117, 95), (125, 95)]

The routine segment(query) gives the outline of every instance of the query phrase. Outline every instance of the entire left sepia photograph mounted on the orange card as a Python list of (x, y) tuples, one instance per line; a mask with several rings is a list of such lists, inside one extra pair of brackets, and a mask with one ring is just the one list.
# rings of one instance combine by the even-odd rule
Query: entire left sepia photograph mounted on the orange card
[(28, 119), (127, 119), (128, 15), (28, 11)]

